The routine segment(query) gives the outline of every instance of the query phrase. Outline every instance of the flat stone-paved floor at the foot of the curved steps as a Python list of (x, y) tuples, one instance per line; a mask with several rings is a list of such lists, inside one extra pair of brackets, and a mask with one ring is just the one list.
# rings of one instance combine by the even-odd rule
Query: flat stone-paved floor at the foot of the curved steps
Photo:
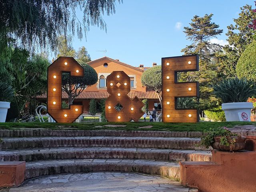
[(3, 192), (189, 192), (179, 182), (159, 176), (122, 172), (59, 174), (28, 180)]

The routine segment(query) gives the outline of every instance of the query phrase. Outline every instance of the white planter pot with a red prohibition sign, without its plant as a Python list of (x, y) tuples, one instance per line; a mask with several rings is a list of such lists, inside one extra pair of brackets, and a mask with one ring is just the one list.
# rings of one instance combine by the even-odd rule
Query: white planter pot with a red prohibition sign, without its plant
[(251, 102), (223, 103), (221, 106), (227, 121), (251, 121)]

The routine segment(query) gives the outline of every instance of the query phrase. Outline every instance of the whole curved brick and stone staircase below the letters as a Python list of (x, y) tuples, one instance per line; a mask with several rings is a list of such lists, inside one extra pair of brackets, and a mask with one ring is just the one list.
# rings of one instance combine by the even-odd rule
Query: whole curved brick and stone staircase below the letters
[(0, 161), (26, 161), (25, 179), (92, 171), (139, 172), (178, 180), (178, 161), (211, 161), (200, 132), (0, 130)]

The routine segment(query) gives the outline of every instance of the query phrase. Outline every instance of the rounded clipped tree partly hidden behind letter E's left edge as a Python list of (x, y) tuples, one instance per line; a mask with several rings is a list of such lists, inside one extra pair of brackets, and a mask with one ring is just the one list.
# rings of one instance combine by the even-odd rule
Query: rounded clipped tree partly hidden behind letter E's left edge
[(158, 94), (162, 106), (162, 67), (154, 66), (143, 72), (141, 82), (143, 86), (154, 90)]

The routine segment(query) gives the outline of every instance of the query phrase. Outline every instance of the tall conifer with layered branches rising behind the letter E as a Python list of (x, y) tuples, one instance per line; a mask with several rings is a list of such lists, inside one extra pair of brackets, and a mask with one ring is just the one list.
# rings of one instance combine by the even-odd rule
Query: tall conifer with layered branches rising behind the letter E
[(222, 46), (210, 42), (211, 38), (216, 38), (223, 30), (218, 29), (219, 25), (212, 22), (213, 14), (205, 14), (203, 17), (194, 16), (190, 26), (184, 27), (184, 33), (192, 44), (186, 46), (181, 51), (185, 55), (199, 55), (199, 72), (187, 72), (179, 74), (179, 81), (199, 81), (200, 102), (205, 103), (201, 108), (207, 108), (210, 94), (212, 92), (212, 82), (222, 76), (219, 63), (222, 54)]

